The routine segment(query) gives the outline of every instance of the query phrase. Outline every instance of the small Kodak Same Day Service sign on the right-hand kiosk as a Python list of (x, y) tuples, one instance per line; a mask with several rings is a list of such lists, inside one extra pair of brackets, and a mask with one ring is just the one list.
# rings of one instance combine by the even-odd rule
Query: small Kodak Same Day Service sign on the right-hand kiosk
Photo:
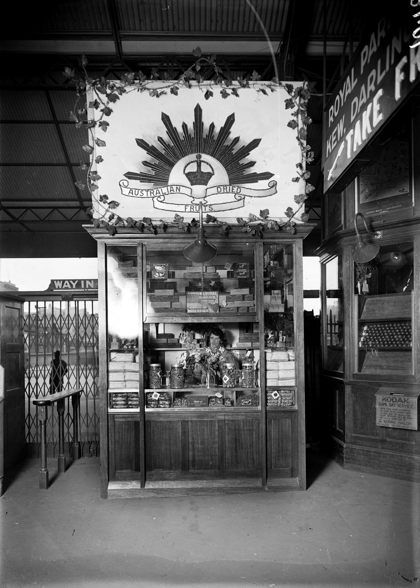
[(382, 389), (376, 394), (376, 425), (394, 429), (418, 430), (418, 396), (404, 394), (404, 390)]

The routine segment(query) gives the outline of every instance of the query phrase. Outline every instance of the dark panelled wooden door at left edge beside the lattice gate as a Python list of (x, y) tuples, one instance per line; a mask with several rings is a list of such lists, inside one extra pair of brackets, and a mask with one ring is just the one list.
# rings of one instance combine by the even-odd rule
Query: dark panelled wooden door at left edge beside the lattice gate
[(17, 298), (0, 297), (0, 363), (5, 369), (4, 469), (25, 457), (24, 305)]

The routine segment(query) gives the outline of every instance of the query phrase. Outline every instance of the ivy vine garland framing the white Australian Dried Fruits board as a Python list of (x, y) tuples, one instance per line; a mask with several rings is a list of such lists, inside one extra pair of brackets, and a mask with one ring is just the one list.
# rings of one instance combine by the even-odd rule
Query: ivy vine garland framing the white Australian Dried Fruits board
[[(249, 81), (243, 78), (238, 78), (236, 82), (234, 82), (230, 79), (230, 76), (228, 79), (222, 76), (221, 68), (216, 65), (215, 55), (205, 57), (201, 54), (201, 49), (199, 47), (193, 51), (193, 55), (196, 58), (194, 65), (184, 71), (176, 81), (170, 80), (168, 74), (165, 72), (165, 79), (162, 81), (163, 84), (159, 88), (155, 87), (155, 82), (159, 79), (158, 72), (155, 68), (152, 69), (150, 79), (146, 79), (146, 76), (141, 71), (139, 71), (138, 74), (135, 74), (134, 72), (126, 72), (122, 75), (121, 81), (119, 82), (106, 80), (104, 77), (92, 79), (86, 71), (88, 60), (85, 55), (82, 55), (81, 58), (79, 58), (79, 65), (84, 72), (84, 79), (77, 79), (74, 69), (66, 67), (64, 72), (66, 78), (75, 84), (76, 93), (78, 95), (74, 110), (70, 111), (70, 120), (75, 123), (76, 128), (88, 129), (88, 132), (90, 132), (92, 136), (92, 142), (95, 142), (98, 146), (105, 147), (105, 141), (94, 137), (92, 128), (98, 126), (102, 131), (106, 132), (109, 122), (106, 121), (104, 117), (109, 117), (112, 114), (112, 103), (116, 102), (119, 99), (119, 96), (122, 96), (122, 94), (126, 92), (148, 91), (151, 98), (159, 98), (163, 93), (169, 91), (174, 96), (178, 96), (180, 86), (190, 88), (190, 81), (196, 81), (198, 82), (198, 85), (203, 83), (204, 76), (202, 73), (204, 71), (206, 71), (206, 74), (209, 71), (214, 71), (212, 82), (222, 86), (220, 93), (224, 99), (229, 98), (231, 95), (239, 98), (240, 94), (238, 91), (241, 91), (242, 89), (246, 91), (254, 89), (257, 93), (267, 95), (268, 91), (274, 92), (275, 88), (284, 88), (289, 95), (289, 98), (285, 100), (285, 108), (295, 108), (295, 110), (291, 112), (292, 119), (288, 122), (287, 126), (292, 129), (297, 129), (296, 141), (298, 141), (299, 148), (301, 149), (301, 161), (296, 163), (296, 176), (292, 178), (292, 182), (297, 183), (302, 180), (304, 182), (304, 192), (294, 196), (298, 208), (294, 211), (289, 206), (284, 212), (287, 219), (284, 220), (284, 222), (270, 219), (268, 209), (264, 209), (259, 212), (259, 216), (249, 213), (247, 219), (238, 217), (236, 219), (236, 226), (241, 226), (243, 232), (259, 236), (262, 235), (263, 230), (279, 230), (281, 226), (286, 226), (287, 232), (294, 233), (295, 219), (298, 218), (296, 215), (301, 210), (302, 206), (304, 206), (304, 202), (306, 198), (308, 198), (309, 193), (315, 189), (314, 186), (308, 183), (311, 173), (305, 169), (306, 163), (314, 161), (314, 152), (311, 151), (311, 146), (305, 145), (306, 126), (312, 122), (311, 118), (308, 116), (308, 101), (313, 89), (312, 85), (304, 83), (303, 86), (295, 88), (291, 83), (279, 82), (278, 79), (273, 78), (271, 82), (266, 82), (264, 87), (261, 88), (256, 85), (261, 78), (256, 71), (252, 73)], [(101, 113), (98, 119), (91, 119), (90, 121), (88, 120), (86, 109), (78, 108), (78, 102), (87, 95), (89, 89), (91, 89), (95, 95), (95, 99), (89, 102), (89, 108), (94, 108)], [(206, 81), (205, 99), (209, 100), (212, 98), (214, 91), (215, 88), (211, 85), (211, 82), (209, 83)], [(84, 190), (87, 186), (92, 195), (92, 202), (95, 202), (98, 205), (98, 208), (100, 207), (102, 209), (103, 212), (99, 218), (92, 218), (92, 222), (97, 228), (102, 226), (108, 230), (109, 235), (115, 235), (119, 227), (125, 226), (137, 228), (141, 232), (146, 231), (156, 233), (157, 229), (165, 229), (167, 226), (174, 226), (180, 230), (186, 231), (189, 226), (198, 225), (197, 220), (192, 219), (190, 222), (186, 222), (184, 221), (184, 217), (177, 214), (175, 214), (175, 217), (172, 220), (161, 219), (158, 223), (152, 222), (151, 218), (143, 218), (142, 220), (134, 220), (130, 217), (126, 219), (121, 218), (114, 212), (115, 209), (118, 208), (119, 202), (109, 200), (108, 196), (105, 194), (99, 196), (96, 196), (95, 194), (95, 192), (97, 193), (98, 191), (98, 185), (95, 182), (101, 179), (101, 176), (98, 175), (98, 165), (102, 163), (104, 159), (101, 155), (94, 158), (94, 149), (91, 145), (84, 145), (83, 149), (90, 158), (89, 164), (81, 162), (80, 165), (80, 168), (83, 171), (86, 171), (86, 184), (80, 181), (75, 182), (75, 184), (81, 190)], [(96, 164), (96, 169), (92, 169), (94, 164)], [(93, 216), (94, 208), (92, 207), (86, 212)], [(303, 212), (299, 217), (299, 220), (301, 220), (301, 222), (307, 222), (308, 218), (309, 215)], [(231, 228), (231, 225), (228, 223), (222, 222), (209, 214), (204, 220), (206, 223), (219, 225), (219, 234), (228, 235), (229, 228)]]

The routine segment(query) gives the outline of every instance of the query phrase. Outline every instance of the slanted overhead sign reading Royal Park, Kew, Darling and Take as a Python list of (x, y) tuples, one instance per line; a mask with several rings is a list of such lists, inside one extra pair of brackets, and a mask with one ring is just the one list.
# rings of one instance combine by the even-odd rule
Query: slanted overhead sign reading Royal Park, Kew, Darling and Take
[(398, 19), (397, 12), (394, 21), (379, 18), (364, 36), (326, 105), (324, 192), (420, 81), (420, 46), (409, 46), (411, 22)]

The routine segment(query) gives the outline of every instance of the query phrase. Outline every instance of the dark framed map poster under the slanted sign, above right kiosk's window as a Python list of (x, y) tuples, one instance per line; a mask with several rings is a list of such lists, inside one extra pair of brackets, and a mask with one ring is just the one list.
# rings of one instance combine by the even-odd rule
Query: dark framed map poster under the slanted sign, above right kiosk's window
[(378, 157), (359, 173), (356, 211), (365, 216), (409, 209), (412, 215), (409, 142), (406, 134), (393, 137)]

